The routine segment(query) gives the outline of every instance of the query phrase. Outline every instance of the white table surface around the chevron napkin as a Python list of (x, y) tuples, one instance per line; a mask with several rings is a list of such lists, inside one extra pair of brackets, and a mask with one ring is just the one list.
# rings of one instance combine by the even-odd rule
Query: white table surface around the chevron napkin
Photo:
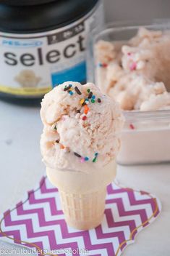
[[(20, 201), (25, 191), (34, 188), (45, 172), (39, 148), (41, 130), (38, 107), (0, 101), (1, 213)], [(123, 255), (169, 256), (170, 165), (118, 166), (117, 179), (129, 187), (156, 194), (163, 205), (158, 219), (137, 236), (135, 244), (127, 247)], [(1, 248), (12, 246), (0, 241)]]

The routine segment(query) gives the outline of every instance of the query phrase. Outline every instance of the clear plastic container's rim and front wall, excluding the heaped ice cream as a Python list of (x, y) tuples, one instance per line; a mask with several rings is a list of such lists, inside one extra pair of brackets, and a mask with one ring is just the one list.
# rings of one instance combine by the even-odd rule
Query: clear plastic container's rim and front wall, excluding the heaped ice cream
[[(93, 41), (89, 41), (88, 81), (95, 81), (95, 58), (93, 46), (99, 40), (127, 41), (137, 33), (140, 26), (151, 30), (169, 30), (169, 20), (145, 21), (133, 25), (133, 22), (108, 25), (101, 33), (93, 31)], [(150, 25), (151, 24), (151, 25)], [(125, 124), (122, 132), (122, 148), (118, 163), (156, 164), (170, 161), (170, 111), (124, 111)]]

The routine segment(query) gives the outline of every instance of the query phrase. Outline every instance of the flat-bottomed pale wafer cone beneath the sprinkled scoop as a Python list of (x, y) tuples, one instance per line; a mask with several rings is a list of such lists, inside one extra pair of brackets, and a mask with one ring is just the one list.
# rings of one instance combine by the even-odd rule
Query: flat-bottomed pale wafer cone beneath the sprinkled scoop
[(116, 161), (88, 173), (47, 167), (48, 179), (59, 189), (61, 206), (68, 225), (80, 230), (101, 224), (105, 208), (106, 186), (116, 176)]

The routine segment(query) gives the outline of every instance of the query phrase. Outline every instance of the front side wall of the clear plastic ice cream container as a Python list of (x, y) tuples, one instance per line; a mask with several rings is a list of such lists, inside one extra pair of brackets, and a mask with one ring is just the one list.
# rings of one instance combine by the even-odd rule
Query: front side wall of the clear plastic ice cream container
[(170, 161), (170, 111), (124, 111), (119, 164), (161, 164)]

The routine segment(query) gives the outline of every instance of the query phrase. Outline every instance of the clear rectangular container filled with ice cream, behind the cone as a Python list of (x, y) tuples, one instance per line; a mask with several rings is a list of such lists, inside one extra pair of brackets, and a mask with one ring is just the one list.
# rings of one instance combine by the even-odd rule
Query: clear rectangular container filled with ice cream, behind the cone
[(90, 37), (88, 80), (125, 117), (119, 164), (170, 161), (169, 20), (110, 24)]

